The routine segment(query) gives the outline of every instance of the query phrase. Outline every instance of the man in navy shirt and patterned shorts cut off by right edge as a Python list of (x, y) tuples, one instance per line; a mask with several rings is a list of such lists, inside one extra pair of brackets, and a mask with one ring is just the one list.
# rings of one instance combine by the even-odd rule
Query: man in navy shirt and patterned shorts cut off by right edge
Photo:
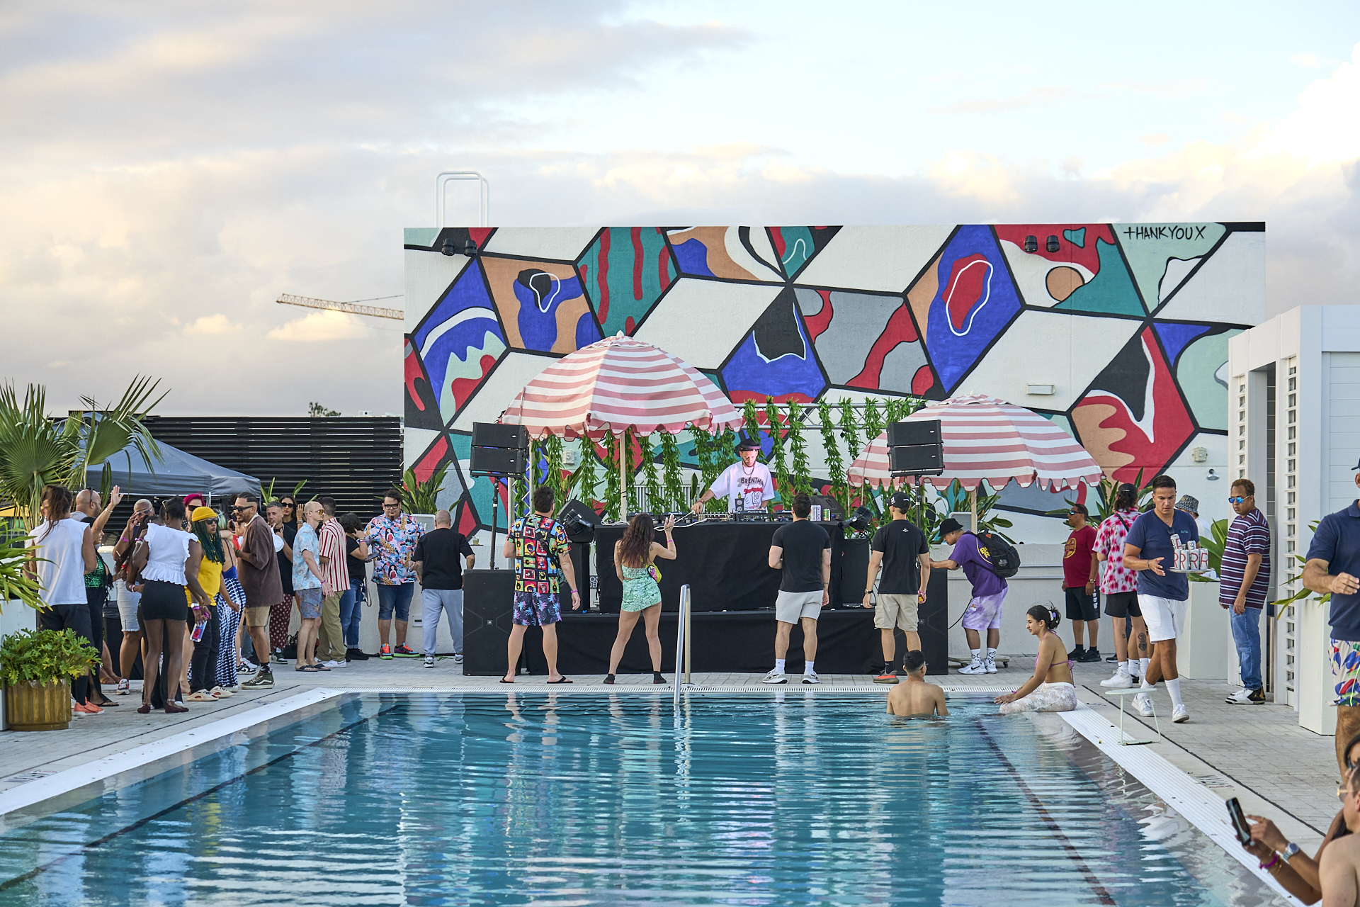
[[(1360, 469), (1360, 464), (1356, 465)], [(1355, 470), (1352, 470), (1355, 472)], [(1360, 472), (1355, 483), (1360, 487)], [(1327, 514), (1312, 533), (1303, 585), (1331, 593), (1331, 666), (1337, 677), (1337, 764), (1346, 770), (1345, 745), (1360, 732), (1360, 500)]]

